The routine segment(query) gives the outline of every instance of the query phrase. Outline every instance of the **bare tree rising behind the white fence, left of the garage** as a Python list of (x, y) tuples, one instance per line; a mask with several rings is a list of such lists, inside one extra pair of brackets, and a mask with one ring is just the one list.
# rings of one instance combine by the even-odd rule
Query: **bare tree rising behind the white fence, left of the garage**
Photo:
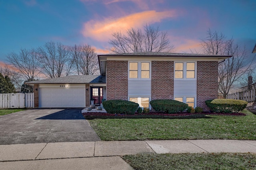
[(39, 73), (37, 55), (35, 49), (20, 49), (20, 53), (8, 53), (6, 57), (8, 63), (16, 69), (16, 72), (22, 75), (23, 80), (34, 80)]

